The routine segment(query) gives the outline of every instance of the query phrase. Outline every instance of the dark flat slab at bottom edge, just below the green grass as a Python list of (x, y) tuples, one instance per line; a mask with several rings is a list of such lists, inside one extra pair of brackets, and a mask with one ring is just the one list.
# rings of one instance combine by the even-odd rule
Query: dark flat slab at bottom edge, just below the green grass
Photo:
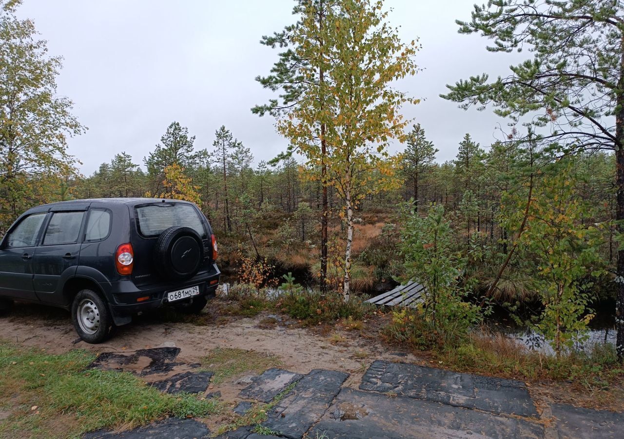
[(194, 419), (168, 418), (135, 428), (127, 432), (114, 433), (97, 431), (87, 433), (84, 439), (189, 439), (203, 438), (210, 434), (208, 428)]

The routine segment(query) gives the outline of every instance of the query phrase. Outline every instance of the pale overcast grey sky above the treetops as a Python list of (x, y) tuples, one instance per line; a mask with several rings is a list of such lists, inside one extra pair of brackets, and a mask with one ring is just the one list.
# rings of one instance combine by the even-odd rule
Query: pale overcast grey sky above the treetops
[[(385, 2), (402, 39), (420, 38), (417, 63), (425, 70), (399, 87), (425, 99), (404, 114), (424, 127), (439, 161), (455, 156), (466, 132), (485, 147), (506, 123), (489, 110), (463, 111), (438, 97), (446, 84), (505, 74), (519, 60), (485, 51), (483, 37), (457, 34), (454, 21), (469, 19), (473, 2)], [(211, 148), (224, 124), (256, 162), (285, 149), (275, 121), (250, 107), (273, 96), (254, 77), (268, 73), (277, 50), (258, 41), (293, 22), (292, 6), (292, 0), (24, 0), (18, 15), (33, 19), (50, 53), (64, 57), (59, 94), (74, 101), (74, 114), (89, 127), (70, 139), (69, 149), (90, 175), (121, 151), (142, 165), (172, 121), (197, 136), (198, 149)]]

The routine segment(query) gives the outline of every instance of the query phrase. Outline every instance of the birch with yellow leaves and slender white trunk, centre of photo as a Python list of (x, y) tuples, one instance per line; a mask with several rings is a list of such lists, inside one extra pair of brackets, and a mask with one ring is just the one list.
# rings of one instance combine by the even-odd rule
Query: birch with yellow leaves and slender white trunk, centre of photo
[[(383, 1), (341, 0), (326, 9), (321, 27), (310, 1), (293, 35), (298, 57), (307, 61), (300, 74), (309, 86), (277, 124), (308, 167), (326, 165), (328, 184), (343, 200), (345, 301), (351, 292), (354, 210), (367, 195), (399, 184), (389, 142), (405, 140), (409, 120), (401, 107), (417, 102), (391, 85), (416, 74), (419, 46), (403, 44), (387, 17)], [(316, 78), (318, 71), (324, 72), (323, 81)], [(327, 146), (326, 157), (319, 141)]]

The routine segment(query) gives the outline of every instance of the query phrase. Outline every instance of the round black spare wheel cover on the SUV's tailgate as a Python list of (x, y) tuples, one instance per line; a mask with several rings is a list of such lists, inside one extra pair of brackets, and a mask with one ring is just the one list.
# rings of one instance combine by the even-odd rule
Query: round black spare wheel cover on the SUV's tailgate
[(188, 279), (197, 274), (203, 261), (203, 242), (190, 227), (164, 230), (154, 247), (157, 273), (165, 279)]

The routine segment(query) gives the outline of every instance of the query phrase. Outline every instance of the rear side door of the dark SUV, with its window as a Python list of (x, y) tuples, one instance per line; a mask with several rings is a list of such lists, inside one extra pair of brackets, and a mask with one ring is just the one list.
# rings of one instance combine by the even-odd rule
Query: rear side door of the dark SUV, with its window
[(54, 210), (47, 220), (32, 257), (34, 289), (42, 302), (64, 304), (62, 287), (76, 274), (86, 209), (72, 205), (71, 210)]

